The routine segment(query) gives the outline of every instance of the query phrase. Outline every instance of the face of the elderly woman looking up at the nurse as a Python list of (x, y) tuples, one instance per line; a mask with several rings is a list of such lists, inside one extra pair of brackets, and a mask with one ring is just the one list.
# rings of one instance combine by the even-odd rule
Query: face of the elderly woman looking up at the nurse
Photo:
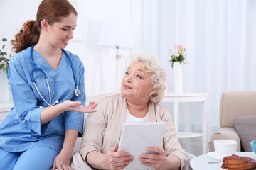
[(146, 65), (142, 62), (132, 63), (122, 79), (121, 91), (124, 97), (134, 97), (149, 101), (149, 97), (155, 93), (151, 83), (151, 73), (146, 71)]

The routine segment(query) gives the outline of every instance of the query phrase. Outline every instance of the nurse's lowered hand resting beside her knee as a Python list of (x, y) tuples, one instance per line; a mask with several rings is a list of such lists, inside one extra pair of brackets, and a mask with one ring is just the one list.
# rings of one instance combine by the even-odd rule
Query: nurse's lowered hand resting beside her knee
[(60, 154), (55, 157), (53, 161), (53, 168), (51, 170), (74, 170), (70, 167), (70, 157), (65, 156), (63, 152), (60, 152)]

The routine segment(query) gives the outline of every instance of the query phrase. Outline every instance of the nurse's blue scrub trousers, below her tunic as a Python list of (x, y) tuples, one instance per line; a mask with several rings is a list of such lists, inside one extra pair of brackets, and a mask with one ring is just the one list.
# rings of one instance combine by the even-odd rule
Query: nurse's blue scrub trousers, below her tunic
[(0, 169), (4, 170), (46, 170), (53, 167), (58, 155), (50, 147), (33, 147), (24, 152), (6, 152), (0, 149)]

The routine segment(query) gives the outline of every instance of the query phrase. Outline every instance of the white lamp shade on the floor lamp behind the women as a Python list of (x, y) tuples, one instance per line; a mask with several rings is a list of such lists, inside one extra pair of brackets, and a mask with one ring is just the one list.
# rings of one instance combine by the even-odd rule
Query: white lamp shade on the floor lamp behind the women
[(133, 48), (132, 26), (129, 18), (109, 16), (100, 35), (99, 45), (108, 48), (130, 49)]

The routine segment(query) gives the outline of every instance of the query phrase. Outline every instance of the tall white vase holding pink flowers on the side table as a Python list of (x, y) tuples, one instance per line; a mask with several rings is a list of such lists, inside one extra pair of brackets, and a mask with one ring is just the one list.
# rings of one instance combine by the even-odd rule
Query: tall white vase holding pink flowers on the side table
[(180, 62), (174, 62), (174, 93), (183, 93), (183, 74)]

